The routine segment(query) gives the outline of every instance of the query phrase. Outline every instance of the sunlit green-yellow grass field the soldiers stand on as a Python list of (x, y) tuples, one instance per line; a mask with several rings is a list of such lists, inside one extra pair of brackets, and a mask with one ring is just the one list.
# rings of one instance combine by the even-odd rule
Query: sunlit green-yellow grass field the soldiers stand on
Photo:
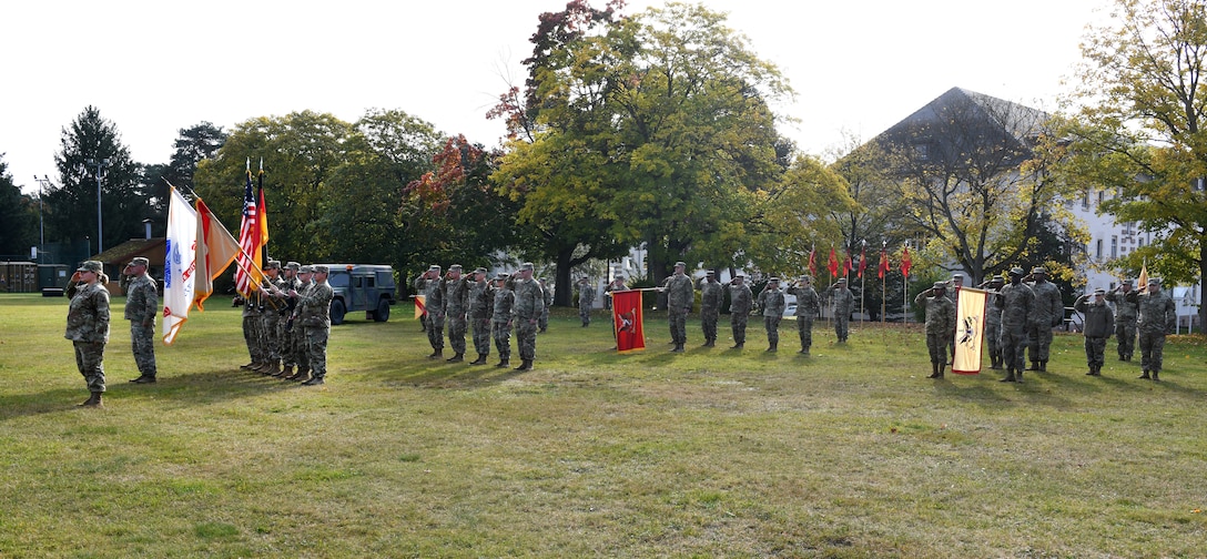
[(1018, 385), (926, 379), (916, 327), (844, 347), (818, 322), (806, 359), (794, 322), (768, 354), (753, 320), (745, 351), (689, 321), (670, 354), (651, 313), (649, 349), (617, 355), (602, 311), (558, 309), (518, 373), (424, 359), (397, 307), (334, 327), (307, 388), (239, 372), (214, 301), (154, 385), (127, 383), (115, 320), (105, 408), (82, 409), (65, 311), (0, 295), (2, 558), (1207, 555), (1201, 337), (1151, 383), (1113, 342), (1084, 375), (1059, 334)]

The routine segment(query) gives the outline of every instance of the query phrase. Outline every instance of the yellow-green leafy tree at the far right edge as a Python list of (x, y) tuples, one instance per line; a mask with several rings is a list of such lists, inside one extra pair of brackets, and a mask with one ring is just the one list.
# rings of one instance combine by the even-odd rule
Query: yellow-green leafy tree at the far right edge
[[(1154, 233), (1120, 262), (1173, 281), (1207, 276), (1207, 2), (1116, 0), (1110, 23), (1090, 27), (1073, 98), (1071, 173), (1118, 196), (1102, 210)], [(1200, 290), (1199, 321), (1207, 324)]]

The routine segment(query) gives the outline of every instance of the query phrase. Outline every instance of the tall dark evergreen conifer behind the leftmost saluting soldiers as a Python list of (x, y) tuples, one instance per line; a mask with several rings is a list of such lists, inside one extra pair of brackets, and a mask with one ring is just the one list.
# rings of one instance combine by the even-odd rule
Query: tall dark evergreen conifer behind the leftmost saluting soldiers
[[(140, 165), (130, 159), (130, 151), (122, 145), (117, 126), (101, 118), (100, 111), (88, 106), (64, 128), (62, 149), (54, 155), (59, 186), (46, 193), (46, 229), (51, 239), (83, 239), (98, 233), (97, 164), (109, 161), (100, 169), (100, 212), (104, 245), (112, 248), (142, 237), (142, 220), (151, 208), (145, 192), (139, 188)], [(92, 161), (93, 164), (88, 162)]]

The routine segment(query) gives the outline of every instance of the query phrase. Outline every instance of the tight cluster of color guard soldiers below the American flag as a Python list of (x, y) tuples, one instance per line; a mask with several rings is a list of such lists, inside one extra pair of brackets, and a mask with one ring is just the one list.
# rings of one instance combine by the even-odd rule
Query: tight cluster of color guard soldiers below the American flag
[(251, 361), (239, 368), (268, 377), (325, 384), (331, 299), (326, 266), (278, 260), (264, 266), (261, 290), (244, 302), (243, 331)]

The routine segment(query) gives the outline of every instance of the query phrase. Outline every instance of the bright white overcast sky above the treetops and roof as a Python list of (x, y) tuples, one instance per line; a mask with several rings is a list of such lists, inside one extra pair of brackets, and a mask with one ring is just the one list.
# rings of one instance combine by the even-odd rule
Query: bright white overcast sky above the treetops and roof
[[(314, 110), (352, 122), (401, 109), (495, 146), (485, 112), (541, 12), (565, 0), (23, 1), (6, 5), (0, 153), (27, 192), (57, 181), (60, 133), (86, 106), (141, 163), (167, 163), (181, 128), (231, 130)], [(952, 87), (1054, 111), (1088, 23), (1109, 0), (704, 0), (780, 66), (798, 95), (783, 130), (823, 155), (870, 139)], [(602, 6), (604, 0), (593, 5)], [(630, 1), (626, 13), (660, 1)]]

